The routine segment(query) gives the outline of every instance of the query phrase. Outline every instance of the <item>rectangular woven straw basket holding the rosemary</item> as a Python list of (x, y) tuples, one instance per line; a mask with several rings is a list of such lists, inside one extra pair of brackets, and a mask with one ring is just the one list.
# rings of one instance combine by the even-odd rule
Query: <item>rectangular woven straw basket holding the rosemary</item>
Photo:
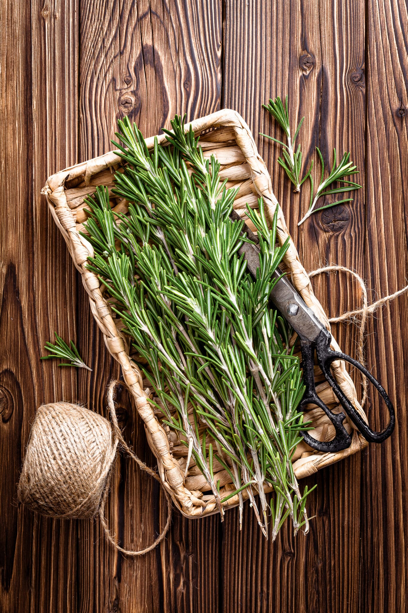
[[(272, 191), (269, 173), (261, 156), (259, 156), (253, 136), (242, 117), (233, 110), (224, 109), (202, 117), (187, 124), (185, 129), (193, 127), (196, 135), (201, 134), (200, 144), (204, 156), (215, 154), (221, 164), (220, 178), (228, 178), (229, 186), (239, 186), (234, 202), (234, 208), (245, 215), (245, 205), (250, 207), (258, 205), (258, 197), (262, 196), (265, 209), (272, 218), (275, 207), (278, 206)], [(158, 137), (163, 142), (164, 135)], [(147, 147), (152, 148), (154, 139), (146, 140)], [(86, 233), (83, 222), (87, 219), (84, 211), (84, 197), (92, 194), (96, 186), (105, 185), (111, 196), (111, 206), (114, 212), (126, 214), (128, 211), (126, 200), (116, 197), (113, 188), (113, 173), (121, 166), (121, 158), (112, 151), (99, 158), (91, 159), (82, 164), (76, 164), (62, 170), (46, 182), (42, 192), (45, 194), (53, 218), (64, 235), (73, 262), (81, 273), (84, 287), (89, 294), (92, 314), (102, 330), (108, 351), (121, 364), (125, 383), (135, 398), (138, 413), (142, 417), (146, 429), (146, 436), (150, 448), (157, 458), (158, 471), (163, 487), (171, 494), (177, 508), (187, 517), (201, 517), (217, 512), (213, 495), (208, 492), (208, 485), (194, 461), (191, 460), (186, 473), (187, 449), (180, 443), (179, 435), (169, 428), (163, 427), (160, 414), (148, 402), (149, 389), (144, 390), (146, 381), (132, 360), (130, 340), (121, 333), (121, 321), (115, 319), (104, 295), (104, 288), (94, 273), (86, 268), (87, 257), (93, 256), (92, 246), (79, 234), (80, 230)], [(249, 224), (250, 225), (250, 224)], [(292, 283), (299, 294), (302, 295), (306, 305), (324, 323), (328, 330), (330, 324), (321, 304), (313, 294), (310, 279), (303, 268), (295, 245), (289, 236), (283, 213), (278, 212), (278, 238), (283, 243), (289, 237), (289, 249), (284, 258), (283, 270), (291, 276)], [(339, 350), (333, 338), (332, 348)], [(358, 403), (354, 384), (347, 374), (343, 362), (333, 362), (333, 375), (344, 394), (366, 419), (362, 407)], [(316, 367), (316, 378), (319, 381), (319, 370)], [(317, 386), (317, 392), (322, 400), (339, 412), (338, 401), (331, 387), (324, 381)], [(312, 435), (320, 440), (330, 440), (333, 436), (333, 426), (321, 409), (313, 406), (308, 411), (307, 419), (311, 419), (315, 430)], [(341, 460), (347, 455), (354, 454), (366, 446), (365, 439), (358, 434), (354, 425), (344, 422), (349, 432), (353, 432), (352, 444), (349, 449), (337, 453), (321, 453), (312, 450), (305, 443), (300, 443), (295, 450), (292, 461), (297, 478), (315, 473), (319, 468), (328, 466)], [(235, 489), (227, 471), (222, 466), (214, 466), (215, 481), (220, 479), (221, 493), (228, 493)], [(245, 490), (243, 497), (245, 498)], [(238, 497), (229, 498), (224, 503), (226, 508), (236, 506)]]

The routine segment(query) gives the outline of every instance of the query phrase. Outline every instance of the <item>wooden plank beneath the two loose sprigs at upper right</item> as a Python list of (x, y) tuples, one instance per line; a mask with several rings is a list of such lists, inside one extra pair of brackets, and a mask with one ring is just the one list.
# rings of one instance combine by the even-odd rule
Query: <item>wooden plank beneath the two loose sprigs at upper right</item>
[[(339, 153), (351, 150), (352, 159), (363, 170), (364, 15), (363, 2), (349, 7), (318, 1), (261, 1), (242, 10), (237, 10), (236, 2), (226, 2), (224, 106), (242, 113), (255, 137), (262, 131), (281, 139), (280, 128), (261, 109), (261, 102), (287, 93), (292, 124), (305, 116), (298, 141), (304, 167), (316, 158), (316, 145), (331, 162), (334, 145)], [(309, 188), (305, 185), (300, 197), (292, 194), (277, 164), (280, 148), (262, 137), (258, 143), (306, 269), (330, 262), (363, 273), (363, 192), (352, 207), (329, 209), (298, 229), (301, 211), (303, 215), (308, 207)], [(317, 178), (320, 170), (315, 170)], [(355, 307), (354, 292), (345, 290), (345, 279), (340, 281), (314, 283), (329, 313)], [(352, 352), (351, 328), (339, 330), (338, 338), (344, 350)], [(245, 509), (246, 529), (241, 534), (236, 511), (228, 515), (223, 542), (225, 611), (358, 610), (360, 501), (356, 492), (361, 462), (353, 457), (302, 481), (303, 487), (317, 482), (308, 503), (310, 516), (316, 517), (307, 536), (294, 539), (287, 525), (275, 544), (265, 544), (259, 541), (256, 522), (248, 517), (250, 509)], [(251, 581), (248, 568), (254, 570)]]

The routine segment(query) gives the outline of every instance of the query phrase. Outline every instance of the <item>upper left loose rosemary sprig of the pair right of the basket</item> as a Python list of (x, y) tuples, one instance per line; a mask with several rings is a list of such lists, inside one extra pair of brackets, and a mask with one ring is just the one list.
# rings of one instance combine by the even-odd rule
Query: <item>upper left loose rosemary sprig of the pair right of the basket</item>
[(292, 138), (291, 126), (289, 124), (289, 113), (287, 111), (287, 96), (284, 104), (278, 96), (275, 98), (275, 100), (272, 100), (272, 98), (270, 98), (269, 104), (262, 104), (262, 106), (264, 107), (264, 109), (270, 112), (273, 118), (275, 118), (275, 120), (283, 129), (284, 133), (286, 134), (287, 144), (281, 142), (281, 140), (273, 138), (273, 136), (263, 134), (263, 132), (259, 132), (259, 134), (283, 146), (284, 159), (278, 158), (278, 162), (286, 172), (287, 177), (289, 177), (289, 180), (291, 180), (291, 182), (295, 186), (294, 191), (299, 192), (300, 186), (302, 185), (302, 183), (304, 183), (304, 181), (306, 181), (306, 178), (310, 176), (311, 169), (313, 167), (312, 162), (308, 172), (306, 172), (305, 177), (303, 177), (303, 179), (301, 180), (300, 175), (302, 173), (302, 151), (300, 151), (300, 145), (297, 150), (295, 150), (295, 140), (297, 138), (297, 135), (299, 134), (299, 130), (302, 127), (302, 123), (305, 118), (302, 117), (302, 119), (300, 120), (299, 125), (295, 130), (295, 134)]

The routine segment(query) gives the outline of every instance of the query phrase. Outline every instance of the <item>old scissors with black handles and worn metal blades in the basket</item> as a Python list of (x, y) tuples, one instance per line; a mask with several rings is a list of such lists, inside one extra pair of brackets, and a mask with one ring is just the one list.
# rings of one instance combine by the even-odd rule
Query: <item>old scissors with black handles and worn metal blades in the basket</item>
[[(235, 212), (232, 211), (231, 219), (234, 221), (242, 219)], [(258, 237), (251, 232), (247, 224), (243, 226), (243, 232), (247, 234), (247, 237), (253, 243), (259, 243)], [(245, 254), (247, 259), (247, 267), (250, 272), (256, 276), (256, 269), (259, 268), (259, 247), (257, 244), (243, 243), (239, 249), (239, 253)], [(305, 384), (305, 394), (303, 395), (302, 402), (300, 403), (300, 409), (306, 405), (317, 405), (327, 415), (335, 428), (335, 437), (331, 441), (318, 441), (313, 438), (308, 432), (303, 431), (302, 435), (304, 440), (310, 447), (317, 449), (317, 451), (341, 451), (351, 445), (351, 436), (344, 428), (343, 421), (346, 419), (344, 413), (333, 413), (328, 406), (319, 398), (316, 392), (316, 385), (314, 383), (314, 351), (316, 351), (317, 364), (321, 368), (323, 375), (330, 384), (338, 398), (339, 403), (346, 411), (349, 419), (362, 433), (364, 438), (369, 443), (382, 443), (394, 430), (395, 427), (395, 411), (391, 403), (388, 394), (382, 387), (376, 378), (374, 378), (360, 362), (354, 360), (352, 357), (347, 356), (339, 351), (332, 351), (330, 349), (330, 343), (332, 341), (332, 335), (319, 319), (314, 315), (313, 311), (307, 307), (302, 297), (298, 294), (295, 288), (289, 281), (283, 276), (283, 273), (279, 268), (276, 269), (275, 276), (278, 279), (277, 283), (272, 289), (270, 297), (276, 308), (280, 311), (282, 316), (286, 319), (291, 327), (297, 332), (300, 338), (300, 348), (302, 350), (302, 368), (303, 368), (303, 383)], [(352, 364), (355, 368), (358, 368), (363, 375), (373, 384), (378, 390), (379, 394), (384, 399), (387, 406), (390, 419), (387, 427), (381, 432), (375, 432), (365, 422), (362, 416), (356, 411), (349, 398), (344, 395), (343, 391), (338, 386), (335, 378), (330, 371), (330, 364), (335, 360), (345, 360)]]

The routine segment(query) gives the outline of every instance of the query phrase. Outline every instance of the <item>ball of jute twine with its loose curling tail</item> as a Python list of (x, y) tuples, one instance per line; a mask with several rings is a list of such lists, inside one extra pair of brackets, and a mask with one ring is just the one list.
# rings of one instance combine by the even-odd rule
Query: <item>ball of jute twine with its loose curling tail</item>
[(112, 424), (105, 417), (69, 402), (40, 406), (32, 424), (17, 494), (21, 503), (48, 517), (84, 519), (99, 514), (106, 537), (116, 549), (128, 555), (141, 555), (154, 549), (165, 537), (171, 520), (171, 498), (164, 490), (168, 519), (152, 545), (138, 551), (119, 547), (104, 515), (108, 478), (118, 444), (142, 470), (160, 483), (161, 479), (122, 437), (114, 408), (117, 383), (121, 382), (112, 381), (108, 389)]

